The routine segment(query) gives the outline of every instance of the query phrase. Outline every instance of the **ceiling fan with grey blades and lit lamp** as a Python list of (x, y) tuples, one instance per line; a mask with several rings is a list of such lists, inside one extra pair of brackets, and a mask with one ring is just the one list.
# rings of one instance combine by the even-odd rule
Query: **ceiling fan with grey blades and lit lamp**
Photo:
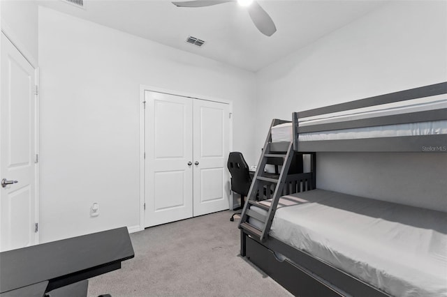
[(270, 15), (265, 12), (256, 0), (195, 0), (182, 2), (175, 1), (173, 4), (177, 7), (205, 7), (235, 1), (240, 3), (241, 6), (247, 6), (251, 20), (261, 33), (266, 36), (272, 36), (273, 33), (277, 31), (277, 27), (274, 26), (274, 22)]

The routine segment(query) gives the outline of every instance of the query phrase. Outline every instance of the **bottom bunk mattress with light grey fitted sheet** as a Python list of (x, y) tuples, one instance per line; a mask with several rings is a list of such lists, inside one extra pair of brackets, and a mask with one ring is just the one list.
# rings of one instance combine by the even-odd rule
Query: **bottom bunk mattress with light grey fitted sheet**
[(447, 296), (447, 213), (316, 189), (281, 197), (270, 236), (392, 296)]

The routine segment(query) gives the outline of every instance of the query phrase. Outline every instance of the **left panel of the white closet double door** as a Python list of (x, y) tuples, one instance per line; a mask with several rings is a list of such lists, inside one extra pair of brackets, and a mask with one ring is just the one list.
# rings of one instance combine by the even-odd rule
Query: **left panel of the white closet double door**
[(145, 100), (145, 227), (150, 227), (193, 215), (193, 113), (191, 98), (146, 91)]

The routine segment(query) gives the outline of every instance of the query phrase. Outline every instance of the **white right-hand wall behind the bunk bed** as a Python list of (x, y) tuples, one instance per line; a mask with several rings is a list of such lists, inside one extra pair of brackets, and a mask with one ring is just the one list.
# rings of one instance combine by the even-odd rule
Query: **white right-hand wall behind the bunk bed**
[[(389, 3), (321, 38), (257, 73), (254, 154), (259, 155), (272, 118), (445, 82), (446, 53), (446, 1)], [(447, 211), (446, 170), (439, 166), (447, 164), (446, 154), (318, 154), (317, 164), (320, 188), (428, 208), (442, 203)], [(383, 171), (393, 172), (388, 176), (398, 188), (383, 183)]]

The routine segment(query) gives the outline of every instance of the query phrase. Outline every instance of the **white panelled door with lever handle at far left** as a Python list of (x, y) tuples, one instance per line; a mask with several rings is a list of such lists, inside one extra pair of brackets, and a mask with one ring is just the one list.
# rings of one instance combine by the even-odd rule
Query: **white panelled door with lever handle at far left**
[(34, 245), (36, 224), (36, 75), (1, 33), (0, 250)]

